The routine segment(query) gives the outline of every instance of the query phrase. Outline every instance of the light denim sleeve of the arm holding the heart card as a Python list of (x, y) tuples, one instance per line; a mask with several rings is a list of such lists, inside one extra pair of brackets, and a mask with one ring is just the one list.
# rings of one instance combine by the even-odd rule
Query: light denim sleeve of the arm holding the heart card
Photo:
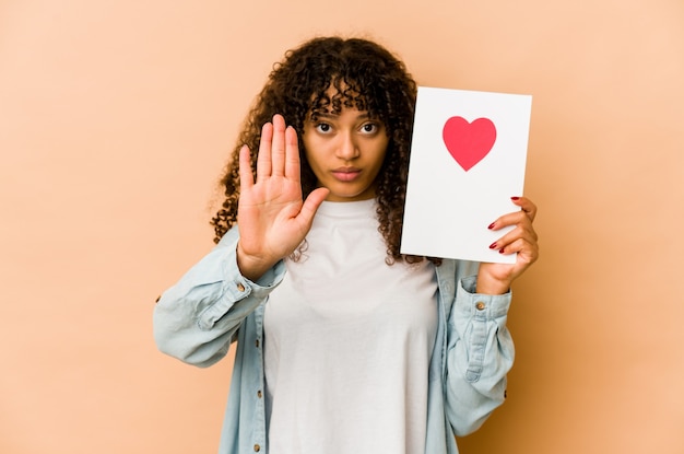
[(504, 403), (515, 353), (506, 327), (510, 292), (477, 294), (475, 279), (458, 281), (447, 321), (446, 412), (459, 436), (477, 430)]

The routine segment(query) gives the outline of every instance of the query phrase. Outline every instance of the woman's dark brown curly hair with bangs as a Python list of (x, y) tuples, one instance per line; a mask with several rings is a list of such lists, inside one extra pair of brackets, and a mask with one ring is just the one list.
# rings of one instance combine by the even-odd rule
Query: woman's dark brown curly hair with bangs
[[(315, 120), (321, 112), (339, 113), (344, 107), (356, 107), (382, 121), (389, 139), (376, 179), (378, 231), (387, 246), (386, 261), (421, 261), (423, 257), (402, 256), (399, 252), (416, 90), (404, 63), (367, 39), (317, 37), (286, 51), (256, 97), (221, 178), (225, 200), (211, 220), (214, 242), (237, 222), (239, 149), (243, 144), (249, 147), (256, 175), (261, 127), (271, 121), (274, 114), (281, 114), (300, 138), (307, 118)], [(307, 197), (317, 187), (317, 179), (306, 160), (302, 140), (299, 158), (302, 191)]]

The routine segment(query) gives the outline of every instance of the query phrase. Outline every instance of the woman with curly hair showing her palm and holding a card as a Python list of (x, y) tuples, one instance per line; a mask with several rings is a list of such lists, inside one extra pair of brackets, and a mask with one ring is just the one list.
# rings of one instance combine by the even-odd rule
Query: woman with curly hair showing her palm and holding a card
[(381, 46), (329, 37), (257, 97), (217, 245), (154, 313), (160, 349), (191, 364), (237, 340), (221, 453), (457, 453), (504, 401), (536, 208), (511, 195), (483, 225), (515, 226), (492, 245), (512, 265), (400, 254), (415, 94)]

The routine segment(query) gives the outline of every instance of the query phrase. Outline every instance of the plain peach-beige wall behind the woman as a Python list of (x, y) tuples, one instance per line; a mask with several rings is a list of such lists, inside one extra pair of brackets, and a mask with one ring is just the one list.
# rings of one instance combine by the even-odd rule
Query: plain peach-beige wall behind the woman
[(534, 96), (542, 258), (462, 452), (684, 452), (681, 0), (0, 1), (0, 452), (215, 452), (231, 361), (157, 353), (154, 300), (272, 62), (331, 33)]

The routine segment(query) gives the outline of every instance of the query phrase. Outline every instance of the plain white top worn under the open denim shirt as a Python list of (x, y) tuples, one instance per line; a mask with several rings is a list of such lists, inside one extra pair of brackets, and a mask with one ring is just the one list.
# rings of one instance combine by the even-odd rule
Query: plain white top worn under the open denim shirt
[(388, 266), (375, 200), (323, 202), (264, 315), (271, 454), (424, 454), (437, 281)]

